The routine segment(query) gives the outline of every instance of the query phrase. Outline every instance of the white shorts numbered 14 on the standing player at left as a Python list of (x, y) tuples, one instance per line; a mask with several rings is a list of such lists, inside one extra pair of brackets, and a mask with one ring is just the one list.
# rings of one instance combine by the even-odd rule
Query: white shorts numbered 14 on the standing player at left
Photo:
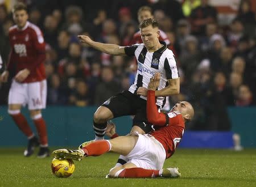
[(47, 82), (19, 83), (13, 79), (8, 104), (28, 104), (29, 110), (46, 108)]

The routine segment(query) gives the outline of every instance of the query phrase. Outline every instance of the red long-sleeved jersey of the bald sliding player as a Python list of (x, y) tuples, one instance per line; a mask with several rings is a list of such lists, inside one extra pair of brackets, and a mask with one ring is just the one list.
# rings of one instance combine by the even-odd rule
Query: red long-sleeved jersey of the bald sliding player
[(156, 126), (158, 130), (150, 135), (162, 143), (166, 150), (166, 158), (174, 154), (175, 148), (179, 145), (185, 130), (185, 122), (179, 112), (171, 111), (168, 114), (159, 113), (155, 104), (155, 91), (148, 91), (147, 94), (147, 119)]

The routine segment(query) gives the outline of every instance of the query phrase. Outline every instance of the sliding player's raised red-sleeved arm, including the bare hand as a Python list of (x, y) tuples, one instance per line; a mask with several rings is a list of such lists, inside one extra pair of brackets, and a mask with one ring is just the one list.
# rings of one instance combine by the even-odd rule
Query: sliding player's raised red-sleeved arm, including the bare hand
[(154, 125), (164, 126), (167, 124), (167, 117), (164, 113), (158, 112), (155, 104), (155, 90), (159, 86), (160, 73), (156, 73), (154, 78), (150, 79), (147, 91), (147, 120)]

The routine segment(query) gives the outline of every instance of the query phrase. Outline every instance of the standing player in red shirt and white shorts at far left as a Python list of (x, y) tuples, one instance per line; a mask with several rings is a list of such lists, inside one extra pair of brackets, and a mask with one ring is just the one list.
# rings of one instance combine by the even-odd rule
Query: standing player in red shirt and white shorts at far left
[(15, 73), (9, 91), (8, 113), (28, 138), (24, 156), (30, 156), (35, 146), (39, 145), (39, 141), (26, 118), (20, 113), (22, 105), (28, 104), (40, 140), (38, 157), (44, 158), (49, 156), (46, 122), (41, 113), (41, 109), (46, 108), (47, 83), (44, 69), (46, 44), (40, 29), (27, 21), (26, 5), (18, 3), (14, 6), (13, 19), (16, 24), (9, 29), (10, 58), (6, 70), (1, 75), (2, 82), (7, 82), (9, 71)]

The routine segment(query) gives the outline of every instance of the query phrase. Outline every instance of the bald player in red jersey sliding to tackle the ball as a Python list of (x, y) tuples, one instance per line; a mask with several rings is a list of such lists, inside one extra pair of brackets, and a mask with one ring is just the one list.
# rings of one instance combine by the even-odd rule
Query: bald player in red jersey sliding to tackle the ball
[(181, 101), (169, 113), (159, 113), (155, 104), (159, 79), (160, 74), (156, 73), (148, 84), (147, 92), (147, 118), (155, 125), (155, 131), (144, 135), (134, 132), (129, 136), (96, 141), (81, 150), (55, 150), (53, 156), (57, 159), (81, 160), (113, 151), (125, 155), (129, 162), (110, 169), (109, 177), (179, 177), (178, 168), (163, 169), (163, 164), (174, 154), (183, 136), (185, 122), (192, 119), (194, 111), (190, 103)]

